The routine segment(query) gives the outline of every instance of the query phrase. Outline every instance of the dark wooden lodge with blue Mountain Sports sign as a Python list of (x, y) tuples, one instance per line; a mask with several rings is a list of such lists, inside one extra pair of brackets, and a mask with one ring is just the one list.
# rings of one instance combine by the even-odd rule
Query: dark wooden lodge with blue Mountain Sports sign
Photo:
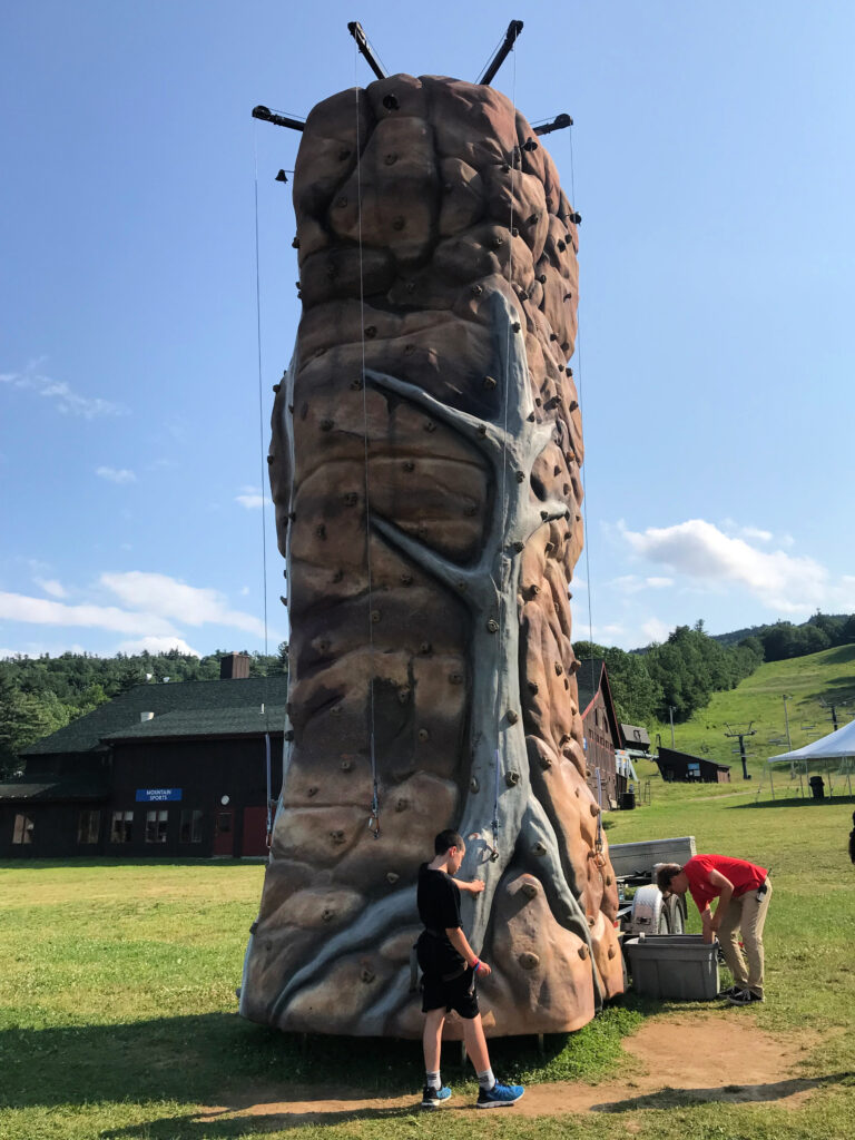
[(267, 854), (267, 743), (282, 785), (287, 678), (136, 685), (36, 741), (0, 781), (0, 857)]

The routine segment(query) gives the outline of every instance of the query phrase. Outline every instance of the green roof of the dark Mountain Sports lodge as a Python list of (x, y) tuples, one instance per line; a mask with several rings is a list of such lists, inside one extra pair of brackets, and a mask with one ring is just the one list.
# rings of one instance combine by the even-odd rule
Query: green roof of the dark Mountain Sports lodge
[[(56, 756), (68, 752), (91, 752), (106, 738), (137, 735), (135, 728), (147, 728), (168, 714), (187, 714), (196, 717), (196, 725), (207, 723), (211, 714), (236, 710), (238, 714), (259, 715), (262, 703), (282, 709), (287, 699), (288, 679), (283, 673), (270, 677), (243, 677), (230, 681), (179, 681), (164, 684), (135, 685), (127, 693), (114, 697), (87, 716), (72, 720), (58, 732), (38, 740), (24, 749), (22, 756)], [(154, 720), (140, 722), (141, 712), (154, 712)], [(261, 719), (261, 717), (259, 717)], [(249, 717), (251, 720), (252, 717)], [(282, 727), (280, 715), (278, 725)], [(276, 722), (270, 717), (270, 724)], [(205, 730), (201, 730), (205, 732)], [(234, 730), (213, 730), (229, 734)], [(247, 730), (241, 730), (247, 731)], [(170, 733), (171, 735), (172, 733)], [(190, 735), (182, 731), (176, 735)], [(205, 732), (206, 734), (206, 732)], [(162, 735), (144, 732), (144, 739)]]

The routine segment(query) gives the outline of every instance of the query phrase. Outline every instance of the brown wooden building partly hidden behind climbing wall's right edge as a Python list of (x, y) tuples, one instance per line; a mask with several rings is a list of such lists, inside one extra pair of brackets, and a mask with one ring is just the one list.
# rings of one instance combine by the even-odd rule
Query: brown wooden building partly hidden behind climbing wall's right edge
[(620, 724), (602, 658), (581, 661), (576, 674), (579, 715), (585, 728), (586, 781), (604, 812), (616, 808), (627, 790), (627, 777), (618, 771), (617, 752), (622, 748)]

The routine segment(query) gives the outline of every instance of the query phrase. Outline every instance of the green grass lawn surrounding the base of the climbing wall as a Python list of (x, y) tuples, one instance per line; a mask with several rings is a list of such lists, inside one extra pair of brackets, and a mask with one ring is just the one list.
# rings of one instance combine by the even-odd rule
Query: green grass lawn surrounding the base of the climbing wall
[[(817, 1033), (821, 1045), (799, 1056), (804, 1075), (828, 1076), (828, 1086), (798, 1109), (677, 1100), (667, 1109), (628, 1108), (617, 1121), (603, 1114), (532, 1119), (513, 1112), (498, 1119), (491, 1113), (448, 1113), (441, 1121), (409, 1109), (342, 1114), (302, 1126), (307, 1140), (316, 1133), (329, 1140), (414, 1133), (451, 1140), (618, 1132), (663, 1140), (853, 1135), (855, 869), (846, 837), (855, 805), (755, 807), (750, 796), (660, 791), (650, 807), (612, 813), (610, 840), (692, 833), (699, 850), (773, 868), (769, 1001), (736, 1016), (793, 1041), (805, 1029)], [(198, 1106), (237, 1105), (253, 1096), (270, 1100), (277, 1092), (284, 1098), (295, 1082), (323, 1084), (329, 1097), (343, 1086), (366, 1096), (417, 1091), (417, 1042), (364, 1041), (355, 1049), (352, 1041), (304, 1041), (236, 1016), (235, 986), (262, 874), (258, 863), (0, 864), (3, 1140), (276, 1135), (284, 1133), (275, 1121), (201, 1119)], [(496, 1042), (495, 1067), (530, 1083), (597, 1081), (626, 1064), (621, 1035), (674, 1008), (630, 997), (578, 1034), (547, 1039), (543, 1058), (534, 1040)], [(463, 1082), (456, 1050), (447, 1051), (443, 1072)]]

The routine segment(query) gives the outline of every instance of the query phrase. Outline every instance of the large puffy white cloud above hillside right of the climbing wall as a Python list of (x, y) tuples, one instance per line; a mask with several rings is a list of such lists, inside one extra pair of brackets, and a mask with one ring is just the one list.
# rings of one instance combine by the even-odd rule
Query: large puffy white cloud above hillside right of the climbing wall
[(699, 581), (743, 586), (768, 609), (782, 613), (811, 612), (816, 606), (855, 609), (855, 579), (845, 576), (834, 583), (815, 559), (759, 551), (703, 519), (649, 527), (642, 534), (621, 523), (620, 530), (635, 554)]

